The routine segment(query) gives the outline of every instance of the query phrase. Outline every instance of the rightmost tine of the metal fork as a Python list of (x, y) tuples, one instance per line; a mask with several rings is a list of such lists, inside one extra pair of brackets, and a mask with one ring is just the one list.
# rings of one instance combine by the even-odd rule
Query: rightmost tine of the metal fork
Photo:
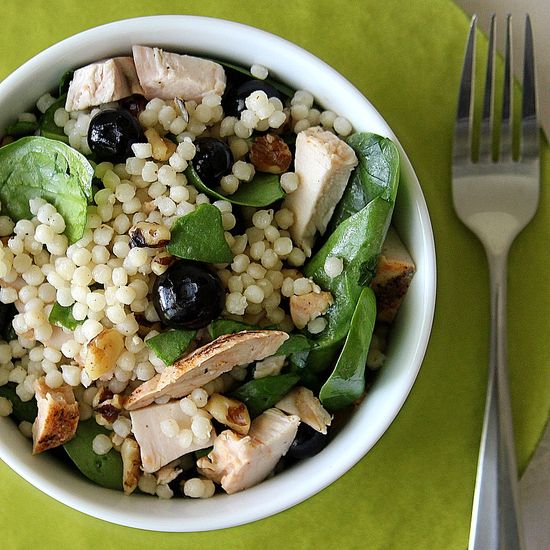
[(537, 97), (533, 30), (529, 15), (525, 17), (525, 52), (523, 59), (523, 99), (521, 109), (521, 158), (538, 157)]

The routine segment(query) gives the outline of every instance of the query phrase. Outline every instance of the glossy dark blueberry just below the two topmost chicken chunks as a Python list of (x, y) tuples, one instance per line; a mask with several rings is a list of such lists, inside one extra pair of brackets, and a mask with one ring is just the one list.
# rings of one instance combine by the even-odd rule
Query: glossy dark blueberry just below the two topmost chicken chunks
[(139, 122), (122, 109), (105, 109), (90, 121), (88, 145), (100, 161), (123, 162), (132, 144), (145, 141)]

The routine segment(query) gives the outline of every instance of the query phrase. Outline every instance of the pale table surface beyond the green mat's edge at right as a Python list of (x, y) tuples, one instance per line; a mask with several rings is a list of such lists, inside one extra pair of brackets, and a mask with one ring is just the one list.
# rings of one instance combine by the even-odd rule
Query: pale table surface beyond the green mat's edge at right
[[(521, 81), (524, 17), (529, 13), (535, 40), (538, 99), (541, 125), (550, 137), (550, 1), (549, 0), (456, 0), (469, 15), (478, 15), (481, 29), (488, 31), (493, 13), (500, 28), (498, 45), (504, 44), (504, 21), (514, 22), (514, 70)], [(497, 35), (498, 35), (497, 30)], [(511, 314), (513, 314), (511, 312)], [(520, 481), (520, 500), (526, 550), (550, 548), (550, 425)]]

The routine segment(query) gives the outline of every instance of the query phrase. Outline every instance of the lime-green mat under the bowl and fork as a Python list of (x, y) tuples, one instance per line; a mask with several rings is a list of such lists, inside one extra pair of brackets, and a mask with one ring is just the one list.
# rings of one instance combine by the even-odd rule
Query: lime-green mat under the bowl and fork
[[(450, 192), (451, 131), (468, 18), (448, 0), (4, 0), (0, 77), (71, 34), (160, 13), (217, 16), (283, 36), (334, 66), (379, 109), (417, 170), (432, 216), (439, 283), (429, 349), (410, 397), (380, 442), (343, 478), (291, 510), (223, 531), (149, 533), (71, 510), (0, 463), (0, 547), (465, 548), (489, 326), (484, 253), (457, 220)], [(510, 257), (509, 359), (522, 469), (550, 404), (547, 149), (543, 161), (540, 208)]]

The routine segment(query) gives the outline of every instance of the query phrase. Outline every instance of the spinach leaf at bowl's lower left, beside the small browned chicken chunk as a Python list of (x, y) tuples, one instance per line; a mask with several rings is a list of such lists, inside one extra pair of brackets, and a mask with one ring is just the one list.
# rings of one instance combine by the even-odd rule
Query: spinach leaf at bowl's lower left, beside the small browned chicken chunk
[(76, 435), (63, 448), (76, 467), (90, 480), (101, 487), (122, 490), (122, 458), (111, 449), (107, 454), (96, 455), (92, 449), (94, 437), (110, 435), (93, 418), (78, 423)]

